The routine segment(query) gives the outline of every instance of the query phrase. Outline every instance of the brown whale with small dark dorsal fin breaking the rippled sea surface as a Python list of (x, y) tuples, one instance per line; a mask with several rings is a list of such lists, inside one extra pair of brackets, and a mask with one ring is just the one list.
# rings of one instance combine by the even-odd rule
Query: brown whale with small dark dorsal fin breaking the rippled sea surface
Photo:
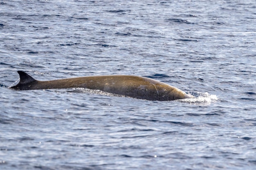
[(96, 75), (39, 81), (24, 71), (18, 71), (18, 74), (20, 75), (20, 81), (16, 86), (10, 87), (18, 91), (88, 88), (151, 101), (170, 101), (194, 97), (169, 84), (136, 75)]

